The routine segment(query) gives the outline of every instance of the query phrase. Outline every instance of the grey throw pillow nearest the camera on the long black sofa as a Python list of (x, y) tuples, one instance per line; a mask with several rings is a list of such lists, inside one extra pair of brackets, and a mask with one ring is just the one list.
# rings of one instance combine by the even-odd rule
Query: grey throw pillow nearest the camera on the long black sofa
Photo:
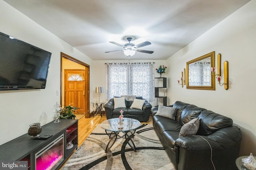
[(196, 135), (199, 128), (199, 124), (200, 121), (198, 117), (184, 124), (180, 129), (179, 137)]

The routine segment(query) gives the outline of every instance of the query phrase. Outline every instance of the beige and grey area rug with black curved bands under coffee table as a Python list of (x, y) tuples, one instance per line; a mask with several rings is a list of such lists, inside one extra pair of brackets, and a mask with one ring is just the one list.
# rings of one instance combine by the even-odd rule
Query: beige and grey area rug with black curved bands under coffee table
[(105, 153), (109, 138), (97, 125), (63, 170), (175, 170), (152, 125), (142, 124), (134, 135), (136, 152), (118, 139)]

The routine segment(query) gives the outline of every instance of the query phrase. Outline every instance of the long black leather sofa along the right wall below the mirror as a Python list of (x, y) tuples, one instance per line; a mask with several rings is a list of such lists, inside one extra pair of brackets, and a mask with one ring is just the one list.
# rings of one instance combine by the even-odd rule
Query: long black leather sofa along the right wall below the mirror
[[(232, 119), (179, 101), (169, 107), (177, 107), (175, 119), (155, 115), (158, 107), (152, 108), (153, 126), (177, 170), (237, 169), (242, 133)], [(196, 135), (179, 137), (182, 125), (196, 117)]]

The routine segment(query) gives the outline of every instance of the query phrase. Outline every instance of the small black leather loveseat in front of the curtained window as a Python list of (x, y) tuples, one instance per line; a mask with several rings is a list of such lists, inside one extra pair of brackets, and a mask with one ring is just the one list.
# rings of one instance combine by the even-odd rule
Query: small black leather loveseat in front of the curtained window
[[(115, 97), (115, 98), (118, 98), (118, 97)], [(143, 98), (140, 96), (136, 96), (136, 99), (143, 99)], [(145, 101), (144, 105), (142, 106), (142, 110), (140, 110), (140, 109), (130, 108), (132, 103), (133, 101), (125, 100), (126, 107), (114, 109), (114, 99), (113, 98), (110, 99), (108, 103), (104, 105), (107, 119), (119, 117), (120, 111), (123, 110), (124, 117), (137, 119), (138, 121), (142, 121), (142, 122), (147, 122), (151, 113), (151, 108), (152, 108), (151, 104)]]

